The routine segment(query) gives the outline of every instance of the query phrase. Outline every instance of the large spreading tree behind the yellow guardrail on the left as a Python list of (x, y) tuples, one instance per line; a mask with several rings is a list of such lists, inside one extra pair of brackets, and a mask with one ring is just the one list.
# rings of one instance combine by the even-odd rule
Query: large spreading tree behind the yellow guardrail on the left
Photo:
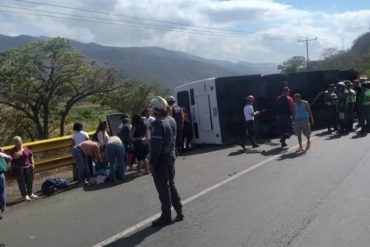
[(97, 68), (63, 38), (37, 41), (0, 53), (0, 104), (30, 120), (38, 138), (64, 124), (72, 107), (115, 89), (112, 70)]

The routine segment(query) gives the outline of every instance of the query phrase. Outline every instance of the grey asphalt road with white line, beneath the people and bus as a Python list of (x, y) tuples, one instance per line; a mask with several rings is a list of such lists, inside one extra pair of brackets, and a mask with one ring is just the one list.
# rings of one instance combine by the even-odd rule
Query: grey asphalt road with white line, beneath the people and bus
[[(151, 176), (130, 176), (12, 207), (0, 221), (0, 243), (93, 246), (121, 233), (109, 246), (368, 247), (370, 137), (314, 134), (302, 154), (275, 140), (258, 152), (205, 147), (180, 157), (183, 222), (136, 229), (160, 205)], [(136, 230), (122, 234), (129, 228)]]

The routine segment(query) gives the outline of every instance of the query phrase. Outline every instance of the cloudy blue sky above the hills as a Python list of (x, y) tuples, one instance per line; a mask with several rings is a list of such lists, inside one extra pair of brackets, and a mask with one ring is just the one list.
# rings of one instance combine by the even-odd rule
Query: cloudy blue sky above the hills
[[(163, 47), (209, 59), (281, 63), (348, 49), (368, 0), (0, 0), (0, 34)], [(316, 39), (317, 37), (317, 39)]]

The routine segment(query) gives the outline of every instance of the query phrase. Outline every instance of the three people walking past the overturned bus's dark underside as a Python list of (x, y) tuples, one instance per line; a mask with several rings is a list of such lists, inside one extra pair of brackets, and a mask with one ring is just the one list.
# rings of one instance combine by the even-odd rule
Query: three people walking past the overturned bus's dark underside
[[(256, 127), (254, 118), (260, 115), (261, 112), (254, 110), (254, 101), (254, 96), (249, 95), (246, 98), (246, 104), (243, 109), (246, 130), (246, 138), (240, 144), (243, 149), (246, 149), (245, 144), (247, 140), (249, 140), (253, 148), (259, 147), (255, 141)], [(314, 124), (310, 104), (303, 100), (298, 93), (294, 94), (292, 98), (290, 96), (290, 89), (284, 87), (282, 94), (275, 102), (275, 111), (281, 147), (286, 147), (286, 140), (295, 133), (299, 143), (297, 152), (308, 150), (311, 147), (311, 125)], [(307, 138), (305, 149), (303, 148), (302, 134)]]

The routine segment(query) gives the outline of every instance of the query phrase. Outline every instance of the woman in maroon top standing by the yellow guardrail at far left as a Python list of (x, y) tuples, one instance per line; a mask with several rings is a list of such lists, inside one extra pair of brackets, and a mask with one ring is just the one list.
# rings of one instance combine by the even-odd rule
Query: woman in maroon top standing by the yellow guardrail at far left
[(38, 198), (32, 193), (33, 169), (35, 161), (31, 149), (23, 146), (22, 138), (16, 136), (13, 138), (14, 148), (10, 151), (12, 165), (17, 178), (19, 190), (26, 201)]

